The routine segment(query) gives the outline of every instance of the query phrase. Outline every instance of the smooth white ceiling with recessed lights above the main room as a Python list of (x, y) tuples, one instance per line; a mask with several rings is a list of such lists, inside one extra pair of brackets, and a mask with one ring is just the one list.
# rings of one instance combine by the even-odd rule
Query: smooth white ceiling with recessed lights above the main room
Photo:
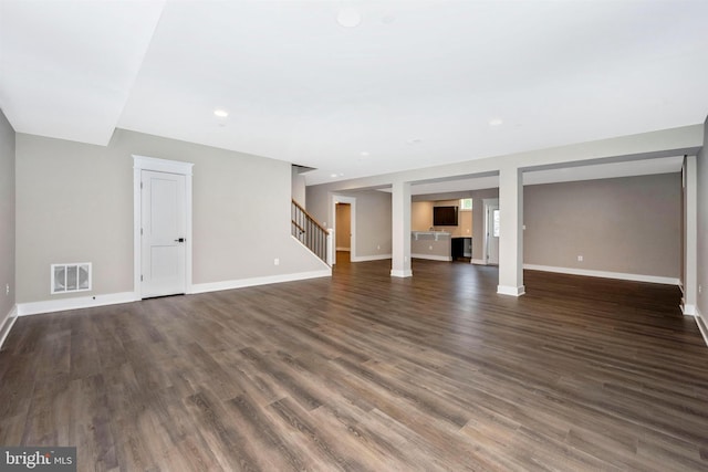
[(19, 133), (133, 129), (312, 185), (702, 123), (706, 24), (705, 0), (0, 0), (0, 106)]

